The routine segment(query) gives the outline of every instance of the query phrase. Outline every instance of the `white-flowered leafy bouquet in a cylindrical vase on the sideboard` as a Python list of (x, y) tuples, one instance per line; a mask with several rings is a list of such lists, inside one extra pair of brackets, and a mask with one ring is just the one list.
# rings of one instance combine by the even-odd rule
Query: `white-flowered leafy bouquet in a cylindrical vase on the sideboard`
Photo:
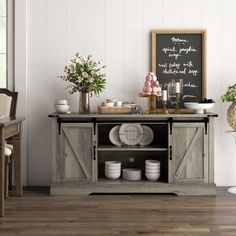
[(66, 87), (70, 89), (69, 93), (80, 92), (79, 113), (90, 113), (89, 97), (99, 95), (105, 89), (105, 65), (101, 60), (94, 60), (91, 55), (84, 58), (79, 53), (71, 62), (65, 66), (66, 75), (58, 77), (70, 82)]

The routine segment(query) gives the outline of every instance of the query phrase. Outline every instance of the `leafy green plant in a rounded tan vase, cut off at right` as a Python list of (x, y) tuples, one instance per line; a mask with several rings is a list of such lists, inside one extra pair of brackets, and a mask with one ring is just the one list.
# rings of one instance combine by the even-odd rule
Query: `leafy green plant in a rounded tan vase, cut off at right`
[(227, 92), (221, 96), (222, 102), (232, 102), (227, 111), (229, 125), (236, 130), (236, 83), (229, 86)]

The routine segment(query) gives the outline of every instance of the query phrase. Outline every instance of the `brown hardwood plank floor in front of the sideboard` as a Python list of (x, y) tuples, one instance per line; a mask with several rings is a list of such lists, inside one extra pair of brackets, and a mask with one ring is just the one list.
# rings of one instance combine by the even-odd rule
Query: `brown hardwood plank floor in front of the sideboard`
[(51, 197), (25, 190), (6, 199), (0, 235), (236, 235), (236, 195)]

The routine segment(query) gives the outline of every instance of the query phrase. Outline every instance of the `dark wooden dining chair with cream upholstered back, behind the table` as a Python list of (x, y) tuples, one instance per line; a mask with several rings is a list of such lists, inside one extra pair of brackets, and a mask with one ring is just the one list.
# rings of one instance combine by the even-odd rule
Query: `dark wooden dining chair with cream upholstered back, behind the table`
[[(17, 92), (0, 88), (0, 117), (15, 118), (17, 105)], [(13, 145), (5, 143), (5, 197), (8, 197), (9, 188), (12, 186)]]

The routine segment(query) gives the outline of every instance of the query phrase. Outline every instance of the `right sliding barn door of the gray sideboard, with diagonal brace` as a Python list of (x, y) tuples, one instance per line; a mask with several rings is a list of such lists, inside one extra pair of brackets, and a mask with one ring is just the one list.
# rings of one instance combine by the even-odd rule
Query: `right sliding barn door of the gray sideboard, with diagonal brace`
[(208, 182), (208, 135), (203, 123), (173, 124), (169, 182)]

